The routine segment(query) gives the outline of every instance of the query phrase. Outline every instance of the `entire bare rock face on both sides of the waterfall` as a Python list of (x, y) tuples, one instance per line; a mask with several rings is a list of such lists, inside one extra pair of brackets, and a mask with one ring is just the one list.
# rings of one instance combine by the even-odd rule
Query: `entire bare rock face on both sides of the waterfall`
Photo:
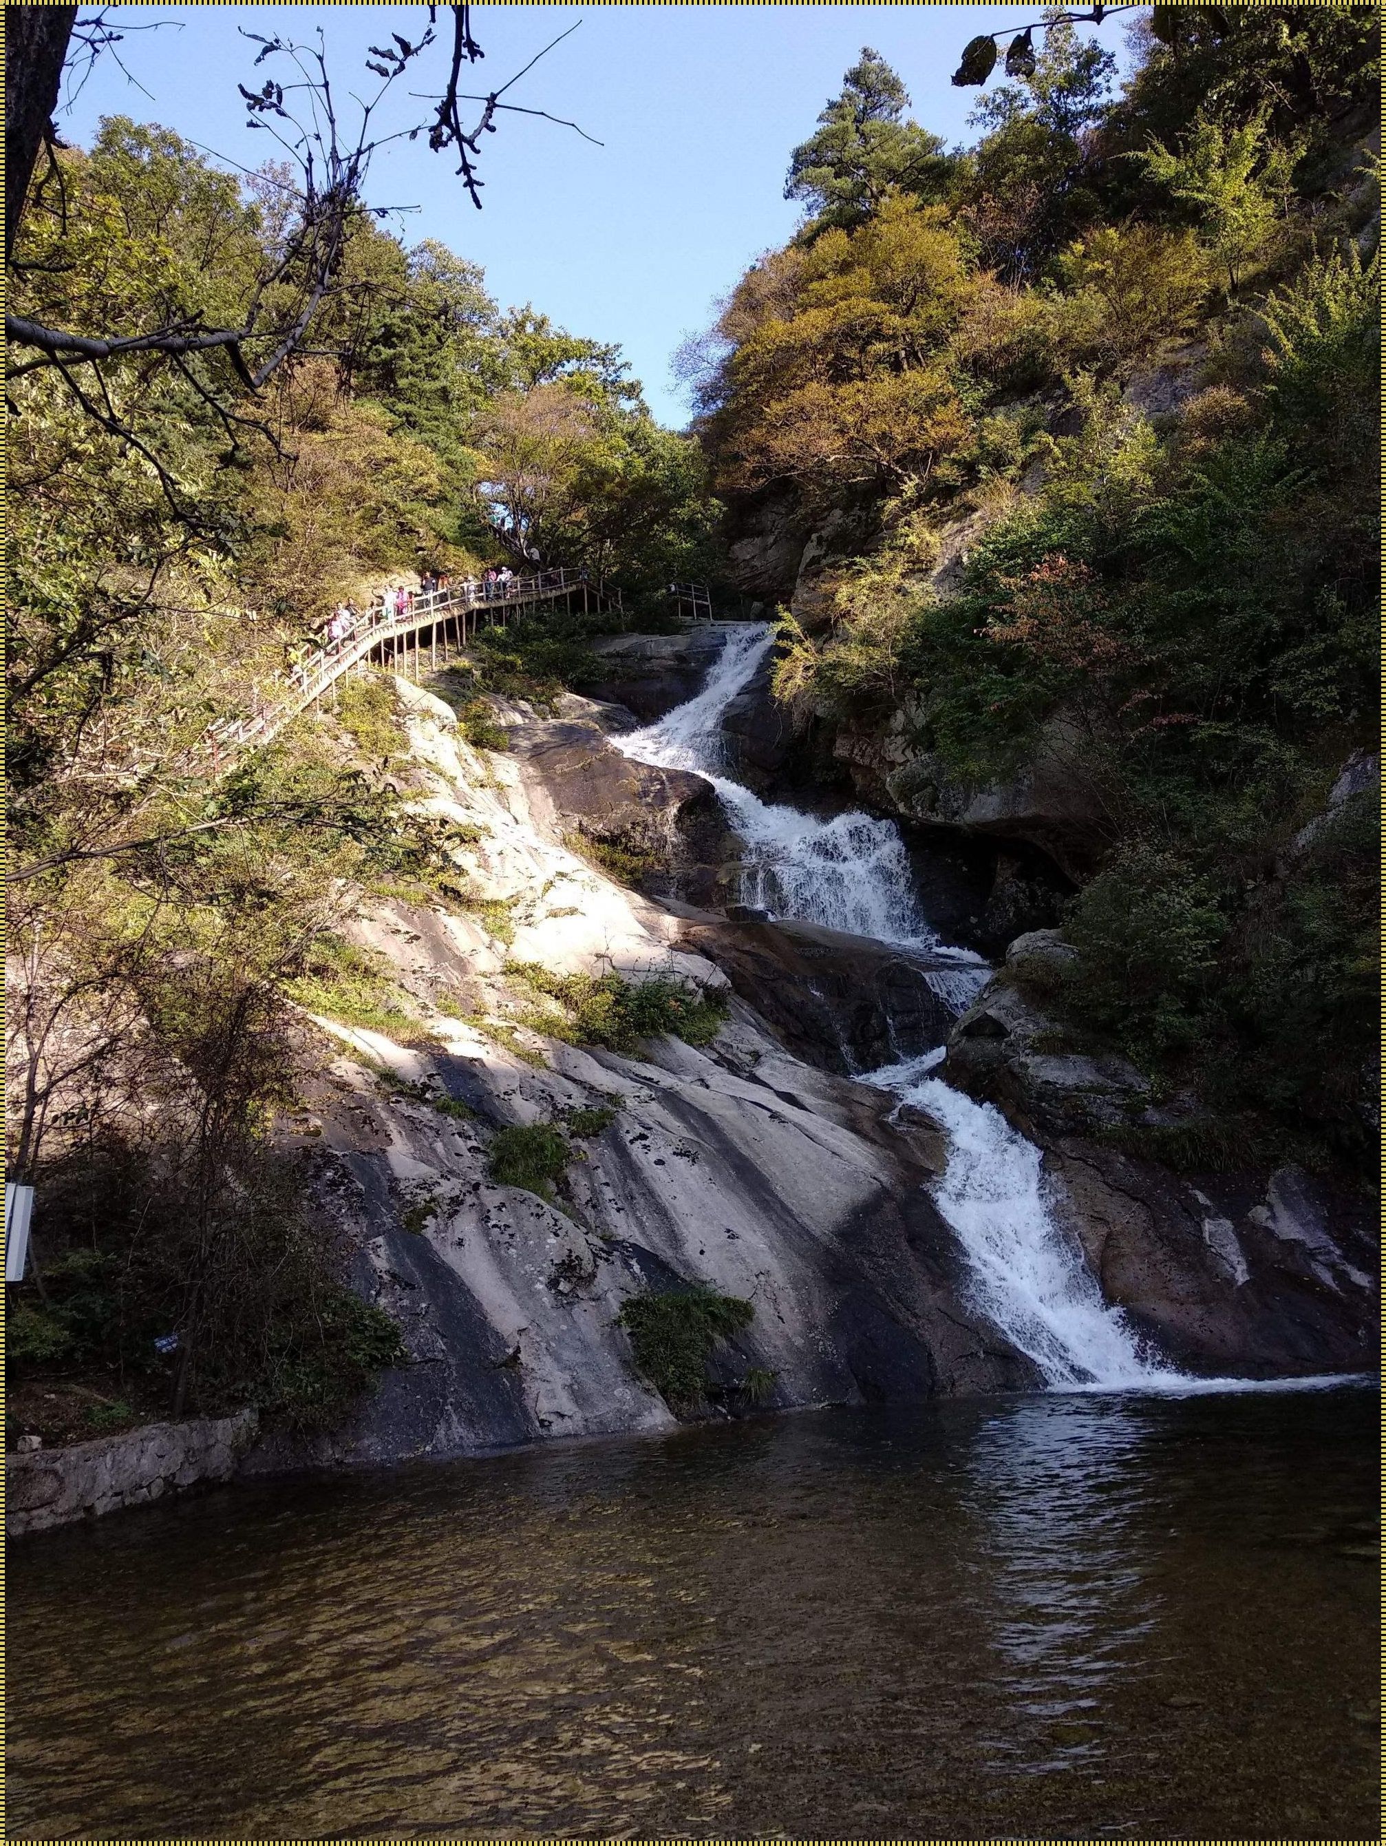
[[(400, 696), (417, 799), (472, 836), (460, 851), (491, 912), (364, 908), (356, 938), (389, 962), (421, 1028), (395, 1043), (306, 1021), (286, 1133), (410, 1359), (334, 1436), (308, 1451), (269, 1438), (247, 1466), (668, 1427), (618, 1316), (635, 1294), (699, 1283), (755, 1309), (712, 1361), (709, 1414), (1039, 1383), (967, 1305), (932, 1202), (938, 1124), (842, 1074), (945, 1036), (926, 958), (655, 903), (576, 853), (583, 820), (591, 840), (624, 816), (627, 845), (639, 834), (670, 868), (698, 866), (723, 825), (698, 777), (611, 749), (620, 714), (579, 700), (557, 720), (511, 711), (513, 751), (484, 757), (437, 700)], [(1063, 949), (1050, 934), (1026, 953)], [(727, 993), (729, 1017), (703, 1049), (567, 1043), (544, 1034), (515, 962), (674, 975)], [(1139, 1073), (1056, 1050), (1046, 1030), (1011, 965), (958, 1021), (945, 1074), (1041, 1139), (1109, 1300), (1194, 1368), (1362, 1364), (1373, 1261), (1338, 1202), (1290, 1169), (1185, 1181), (1118, 1152), (1104, 1126), (1150, 1106)], [(496, 1135), (539, 1124), (563, 1133), (567, 1165), (543, 1191), (500, 1183)]]

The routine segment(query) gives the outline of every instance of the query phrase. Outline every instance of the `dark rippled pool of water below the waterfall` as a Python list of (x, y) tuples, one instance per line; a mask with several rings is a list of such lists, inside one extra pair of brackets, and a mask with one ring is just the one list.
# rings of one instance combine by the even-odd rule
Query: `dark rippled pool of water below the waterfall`
[(1377, 1399), (832, 1410), (11, 1545), (13, 1837), (1377, 1839)]

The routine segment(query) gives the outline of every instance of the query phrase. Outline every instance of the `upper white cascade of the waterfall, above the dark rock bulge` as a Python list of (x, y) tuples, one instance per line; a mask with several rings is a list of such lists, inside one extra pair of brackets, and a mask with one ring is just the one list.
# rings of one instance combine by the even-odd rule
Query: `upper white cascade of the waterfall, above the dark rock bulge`
[(827, 820), (801, 814), (760, 801), (725, 775), (723, 713), (749, 685), (771, 642), (773, 629), (766, 626), (733, 629), (696, 698), (659, 724), (613, 742), (640, 762), (696, 770), (712, 783), (746, 842), (742, 903), (945, 958), (954, 965), (930, 969), (925, 978), (945, 1004), (962, 1012), (987, 978), (986, 962), (971, 949), (947, 947), (925, 921), (899, 827), (862, 812)]

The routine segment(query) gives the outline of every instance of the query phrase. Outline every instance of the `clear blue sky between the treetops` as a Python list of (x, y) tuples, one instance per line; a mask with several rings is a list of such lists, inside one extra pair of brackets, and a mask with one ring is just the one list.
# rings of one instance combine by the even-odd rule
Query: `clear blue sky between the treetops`
[[(258, 46), (238, 26), (299, 41), (321, 26), (338, 83), (358, 83), (365, 48), (391, 31), (417, 37), (426, 7), (122, 6), (111, 17), (120, 28), (175, 22), (129, 31), (118, 46), (149, 94), (102, 55), (59, 114), (59, 133), (87, 144), (100, 116), (131, 114), (258, 166), (275, 150), (268, 135), (247, 131), (236, 83), (258, 89), (266, 72), (281, 81), (282, 72), (273, 61), (253, 74)], [(378, 157), (369, 198), (417, 205), (393, 229), (480, 262), (502, 306), (532, 301), (572, 332), (620, 342), (655, 414), (681, 425), (687, 406), (670, 354), (709, 323), (747, 262), (794, 231), (799, 210), (781, 196), (790, 150), (812, 133), (860, 48), (875, 46), (899, 70), (915, 120), (949, 144), (965, 142), (978, 92), (949, 83), (962, 46), (976, 31), (1039, 17), (1039, 7), (1010, 6), (476, 6), (485, 61), (469, 87), (478, 90), (581, 20), (509, 98), (574, 118), (603, 146), (506, 116), (485, 137), (484, 210), (423, 138)], [(1118, 57), (1133, 17), (1098, 33)], [(441, 87), (443, 54), (443, 44), (424, 54), (410, 89)], [(391, 111), (393, 126), (404, 126), (428, 107), (400, 94)]]

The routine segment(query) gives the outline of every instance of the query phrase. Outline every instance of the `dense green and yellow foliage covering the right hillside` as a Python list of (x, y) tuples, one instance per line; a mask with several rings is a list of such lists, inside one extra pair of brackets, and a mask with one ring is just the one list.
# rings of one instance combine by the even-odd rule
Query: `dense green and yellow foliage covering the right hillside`
[[(1035, 31), (939, 207), (886, 192), (762, 258), (699, 426), (733, 504), (773, 482), (867, 533), (783, 622), (801, 731), (890, 727), (919, 812), (1043, 762), (1091, 816), (1050, 1001), (1198, 1097), (1165, 1156), (1360, 1161), (1369, 814), (1301, 829), (1373, 748), (1375, 46), (1345, 9), (1165, 11), (1120, 100), (1100, 42)], [(952, 391), (928, 449), (912, 369)], [(897, 447), (843, 467), (875, 406)]]

